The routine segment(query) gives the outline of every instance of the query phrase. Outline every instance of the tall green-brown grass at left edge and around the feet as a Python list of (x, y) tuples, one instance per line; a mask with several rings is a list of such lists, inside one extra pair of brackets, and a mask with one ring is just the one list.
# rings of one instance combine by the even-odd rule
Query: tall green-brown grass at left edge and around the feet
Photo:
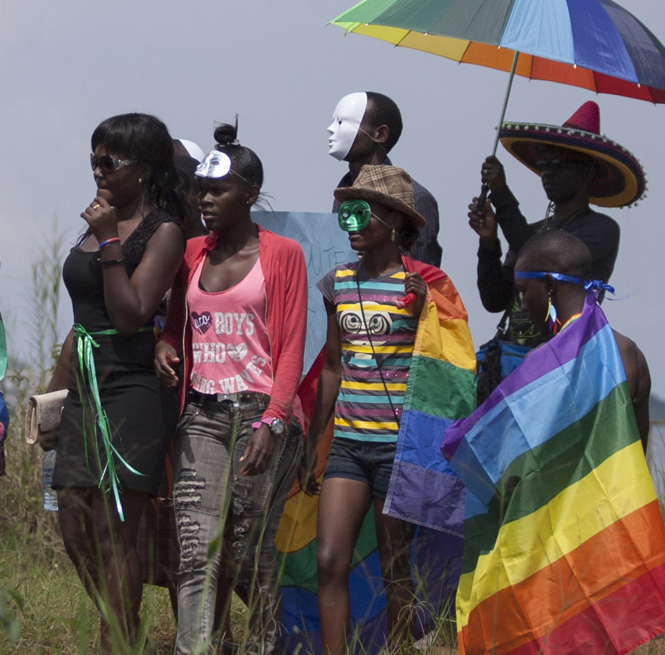
[[(23, 323), (28, 326), (25, 341), (30, 356), (19, 358), (10, 351), (3, 381), (11, 424), (7, 474), (0, 478), (0, 654), (87, 655), (98, 652), (98, 610), (64, 551), (57, 514), (42, 509), (42, 450), (24, 441), (26, 401), (30, 394), (45, 390), (61, 346), (57, 310), (64, 241), (55, 225), (42, 243), (26, 292), (30, 301)], [(170, 655), (175, 621), (166, 589), (145, 586), (141, 618), (142, 638), (135, 653)], [(234, 596), (231, 628), (241, 643), (248, 637), (248, 622), (249, 613)], [(440, 652), (441, 636), (447, 633), (450, 622), (441, 618), (434, 639), (423, 643), (420, 652)], [(453, 642), (446, 638), (445, 643)], [(126, 654), (127, 649), (118, 645), (120, 652)]]

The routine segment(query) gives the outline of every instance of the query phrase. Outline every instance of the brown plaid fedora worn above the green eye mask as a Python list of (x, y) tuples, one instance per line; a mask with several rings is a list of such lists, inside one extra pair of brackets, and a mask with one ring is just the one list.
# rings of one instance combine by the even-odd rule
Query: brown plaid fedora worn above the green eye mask
[(339, 202), (367, 200), (379, 202), (400, 211), (414, 222), (425, 227), (426, 221), (414, 205), (414, 183), (411, 175), (397, 166), (373, 166), (365, 164), (355, 178), (353, 186), (338, 186), (333, 192)]

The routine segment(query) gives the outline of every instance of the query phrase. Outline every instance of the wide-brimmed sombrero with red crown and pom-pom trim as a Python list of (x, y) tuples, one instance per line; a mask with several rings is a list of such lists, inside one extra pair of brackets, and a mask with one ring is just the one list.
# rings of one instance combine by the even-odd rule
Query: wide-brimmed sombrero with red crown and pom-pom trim
[(616, 141), (601, 135), (598, 105), (584, 103), (563, 125), (502, 123), (499, 139), (508, 152), (540, 175), (538, 146), (559, 146), (583, 152), (598, 164), (589, 189), (589, 202), (600, 207), (624, 207), (646, 191), (646, 177), (637, 157)]

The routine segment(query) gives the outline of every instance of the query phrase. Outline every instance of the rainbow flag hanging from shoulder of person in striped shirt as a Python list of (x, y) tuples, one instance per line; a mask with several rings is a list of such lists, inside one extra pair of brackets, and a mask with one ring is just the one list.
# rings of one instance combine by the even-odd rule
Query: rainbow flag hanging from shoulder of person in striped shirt
[[(420, 272), (420, 271), (419, 271)], [(384, 512), (462, 536), (464, 486), (441, 456), (445, 429), (476, 407), (476, 353), (447, 276), (427, 280)]]

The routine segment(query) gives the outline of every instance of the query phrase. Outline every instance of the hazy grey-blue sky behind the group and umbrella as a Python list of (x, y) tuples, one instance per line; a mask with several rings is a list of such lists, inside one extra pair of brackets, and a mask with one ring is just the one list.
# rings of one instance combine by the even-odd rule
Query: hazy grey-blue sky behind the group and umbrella
[[(112, 114), (157, 114), (174, 137), (212, 146), (215, 121), (240, 114), (239, 137), (265, 167), (274, 209), (328, 211), (346, 171), (327, 154), (326, 125), (351, 91), (381, 91), (400, 106), (405, 130), (391, 153), (434, 193), (441, 211), (442, 268), (470, 313), (476, 344), (499, 315), (484, 311), (475, 286), (477, 238), (466, 207), (479, 189), (507, 73), (458, 65), (434, 55), (348, 35), (326, 23), (346, 0), (2, 1), (0, 86), (0, 308), (10, 348), (28, 313), (30, 263), (51, 236), (53, 218), (68, 247), (94, 197), (89, 139)], [(623, 5), (665, 40), (661, 0)], [(665, 395), (665, 274), (662, 188), (665, 107), (549, 82), (515, 80), (507, 119), (560, 124), (589, 99), (601, 106), (601, 130), (639, 157), (652, 193), (639, 207), (608, 211), (621, 225), (606, 302), (612, 325), (646, 353), (654, 391)], [(542, 218), (540, 180), (499, 146), (508, 182), (530, 220)], [(66, 294), (62, 336), (71, 323)]]

